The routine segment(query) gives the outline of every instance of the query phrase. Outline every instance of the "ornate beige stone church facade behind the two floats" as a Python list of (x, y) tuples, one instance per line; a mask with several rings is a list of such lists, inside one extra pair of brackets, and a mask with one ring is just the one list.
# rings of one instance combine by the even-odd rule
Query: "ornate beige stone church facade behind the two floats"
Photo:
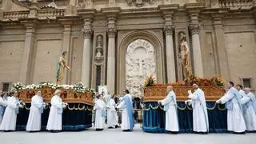
[(256, 88), (254, 0), (1, 0), (0, 90), (14, 82), (65, 83), (140, 95), (145, 78), (182, 81), (180, 34), (198, 77)]

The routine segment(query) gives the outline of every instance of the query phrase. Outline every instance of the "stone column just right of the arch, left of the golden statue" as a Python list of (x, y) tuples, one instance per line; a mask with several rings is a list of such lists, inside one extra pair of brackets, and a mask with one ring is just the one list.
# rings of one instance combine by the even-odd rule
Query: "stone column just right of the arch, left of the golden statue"
[(166, 34), (166, 72), (168, 83), (176, 82), (173, 29), (174, 26), (172, 25), (171, 22), (171, 16), (166, 16), (163, 30)]

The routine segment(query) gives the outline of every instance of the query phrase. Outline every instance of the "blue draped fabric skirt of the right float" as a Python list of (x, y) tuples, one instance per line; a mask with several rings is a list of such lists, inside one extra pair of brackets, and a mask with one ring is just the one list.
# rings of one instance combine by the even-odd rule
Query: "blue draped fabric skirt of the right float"
[[(208, 108), (214, 107), (215, 102), (206, 102)], [(158, 102), (145, 102), (146, 109), (158, 106)], [(186, 105), (184, 102), (178, 102), (179, 108), (184, 108)], [(220, 106), (224, 109), (224, 106)], [(210, 133), (223, 133), (227, 132), (226, 124), (226, 110), (218, 110), (218, 106), (214, 110), (207, 110), (209, 118)], [(143, 111), (143, 124), (142, 130), (150, 133), (163, 133), (165, 130), (165, 112), (159, 107), (156, 110), (150, 108), (150, 110)], [(186, 110), (178, 109), (178, 124), (180, 133), (192, 133), (193, 132), (193, 110), (192, 107), (186, 108)]]

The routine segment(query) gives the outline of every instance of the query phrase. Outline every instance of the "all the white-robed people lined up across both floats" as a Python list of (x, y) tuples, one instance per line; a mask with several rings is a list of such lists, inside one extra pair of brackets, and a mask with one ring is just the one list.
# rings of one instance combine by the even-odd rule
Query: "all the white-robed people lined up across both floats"
[[(227, 82), (226, 94), (216, 103), (225, 104), (227, 110), (227, 130), (235, 134), (245, 134), (246, 131), (256, 131), (256, 100), (249, 87), (242, 89), (241, 85), (234, 88), (233, 82)], [(193, 84), (194, 91), (188, 91), (187, 105), (193, 108), (193, 130), (198, 134), (208, 134), (209, 120), (204, 92)], [(158, 101), (166, 112), (165, 129), (171, 134), (178, 134), (178, 112), (176, 95), (172, 86), (167, 86), (166, 98)], [(0, 130), (13, 131), (16, 127), (16, 119), (19, 107), (24, 106), (17, 98), (17, 93), (3, 94), (0, 97)], [(68, 105), (62, 102), (61, 90), (56, 90), (50, 101), (50, 114), (46, 130), (58, 132), (62, 130), (62, 112)], [(94, 101), (94, 127), (97, 131), (104, 128), (118, 128), (118, 113), (122, 111), (123, 131), (134, 130), (134, 106), (129, 90), (124, 90), (124, 96), (118, 99), (108, 94), (97, 94)], [(38, 91), (31, 99), (30, 114), (26, 125), (26, 131), (41, 130), (41, 115), (48, 104), (43, 102), (42, 93)], [(139, 105), (139, 104), (138, 104)]]

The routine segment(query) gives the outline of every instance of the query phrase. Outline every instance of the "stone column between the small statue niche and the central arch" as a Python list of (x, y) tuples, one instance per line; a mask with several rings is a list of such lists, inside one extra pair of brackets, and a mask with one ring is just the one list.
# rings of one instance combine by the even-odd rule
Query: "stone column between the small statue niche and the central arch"
[(107, 76), (106, 76), (106, 85), (111, 94), (114, 91), (115, 83), (115, 36), (117, 33), (115, 27), (115, 18), (108, 18), (108, 53), (107, 53)]

